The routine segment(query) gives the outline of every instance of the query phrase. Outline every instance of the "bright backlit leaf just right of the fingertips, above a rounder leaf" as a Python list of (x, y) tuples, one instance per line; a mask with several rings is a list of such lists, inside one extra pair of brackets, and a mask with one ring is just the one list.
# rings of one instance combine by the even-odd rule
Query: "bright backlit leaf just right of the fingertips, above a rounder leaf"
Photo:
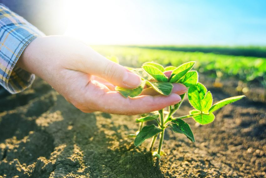
[(208, 112), (212, 106), (212, 94), (201, 83), (188, 88), (187, 96), (190, 104), (197, 110)]

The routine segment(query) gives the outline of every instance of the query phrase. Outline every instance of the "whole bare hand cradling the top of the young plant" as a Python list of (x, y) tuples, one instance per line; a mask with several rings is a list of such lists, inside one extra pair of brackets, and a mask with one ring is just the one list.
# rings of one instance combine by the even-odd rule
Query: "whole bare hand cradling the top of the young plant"
[(36, 38), (25, 48), (16, 65), (47, 81), (83, 112), (148, 113), (180, 102), (179, 95), (187, 91), (184, 85), (176, 83), (169, 96), (125, 98), (114, 91), (115, 86), (138, 87), (140, 77), (101, 56), (83, 42), (64, 36)]

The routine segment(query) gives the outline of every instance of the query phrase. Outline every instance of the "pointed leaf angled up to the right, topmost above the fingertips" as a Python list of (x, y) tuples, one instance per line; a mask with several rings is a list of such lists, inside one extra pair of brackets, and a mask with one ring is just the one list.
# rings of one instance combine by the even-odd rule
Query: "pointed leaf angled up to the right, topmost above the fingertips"
[(169, 82), (171, 83), (178, 82), (190, 69), (192, 69), (194, 64), (195, 64), (195, 61), (186, 62), (182, 64), (181, 66), (177, 67), (175, 70), (173, 70)]

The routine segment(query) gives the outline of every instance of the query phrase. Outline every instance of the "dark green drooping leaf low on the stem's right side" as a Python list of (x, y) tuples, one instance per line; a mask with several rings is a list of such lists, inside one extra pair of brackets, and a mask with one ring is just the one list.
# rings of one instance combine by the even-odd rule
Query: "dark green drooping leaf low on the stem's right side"
[(194, 135), (187, 122), (183, 121), (182, 119), (173, 120), (172, 122), (173, 123), (170, 123), (168, 125), (174, 132), (185, 134), (185, 136), (187, 136), (190, 141), (195, 142)]

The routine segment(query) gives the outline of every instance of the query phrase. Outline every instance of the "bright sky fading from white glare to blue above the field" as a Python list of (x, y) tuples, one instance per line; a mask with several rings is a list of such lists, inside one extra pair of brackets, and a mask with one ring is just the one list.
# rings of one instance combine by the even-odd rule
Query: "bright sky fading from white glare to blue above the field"
[(266, 46), (266, 0), (65, 1), (88, 44)]

